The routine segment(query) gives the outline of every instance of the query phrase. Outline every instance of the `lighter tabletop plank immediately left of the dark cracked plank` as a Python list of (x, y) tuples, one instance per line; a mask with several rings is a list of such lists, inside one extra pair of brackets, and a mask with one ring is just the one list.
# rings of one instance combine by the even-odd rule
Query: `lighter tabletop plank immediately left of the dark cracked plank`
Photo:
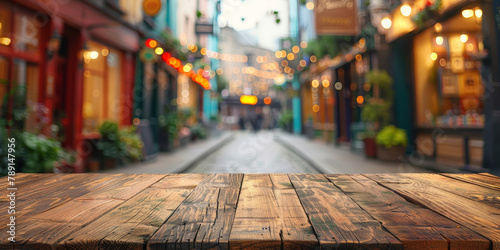
[[(155, 175), (156, 176), (156, 175)], [(72, 232), (59, 244), (61, 249), (143, 249), (146, 241), (170, 217), (193, 188), (181, 188), (171, 175), (124, 201), (87, 226)], [(146, 179), (145, 179), (146, 180)], [(198, 180), (201, 181), (199, 178)], [(156, 184), (170, 188), (154, 188)], [(133, 188), (133, 187), (131, 187)], [(106, 196), (106, 195), (105, 195)]]

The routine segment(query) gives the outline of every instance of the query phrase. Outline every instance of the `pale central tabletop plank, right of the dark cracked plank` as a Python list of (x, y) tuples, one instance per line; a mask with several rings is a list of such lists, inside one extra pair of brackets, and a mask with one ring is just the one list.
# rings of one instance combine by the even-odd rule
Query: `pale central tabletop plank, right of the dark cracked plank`
[(232, 249), (318, 246), (286, 174), (246, 174), (231, 230)]

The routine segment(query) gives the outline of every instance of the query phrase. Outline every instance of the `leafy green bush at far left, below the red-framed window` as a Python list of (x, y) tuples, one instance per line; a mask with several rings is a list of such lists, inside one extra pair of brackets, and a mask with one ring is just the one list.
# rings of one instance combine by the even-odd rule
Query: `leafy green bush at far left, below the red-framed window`
[(51, 138), (23, 132), (16, 143), (16, 160), (22, 158), (25, 173), (51, 172), (54, 164), (62, 158), (61, 144)]

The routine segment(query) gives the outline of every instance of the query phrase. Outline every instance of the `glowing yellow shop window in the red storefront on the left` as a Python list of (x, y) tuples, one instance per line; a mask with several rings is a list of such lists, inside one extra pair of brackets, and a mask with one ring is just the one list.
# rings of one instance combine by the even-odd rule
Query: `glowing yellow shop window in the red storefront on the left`
[(83, 54), (82, 132), (93, 133), (104, 121), (120, 120), (122, 54), (95, 42), (87, 45)]

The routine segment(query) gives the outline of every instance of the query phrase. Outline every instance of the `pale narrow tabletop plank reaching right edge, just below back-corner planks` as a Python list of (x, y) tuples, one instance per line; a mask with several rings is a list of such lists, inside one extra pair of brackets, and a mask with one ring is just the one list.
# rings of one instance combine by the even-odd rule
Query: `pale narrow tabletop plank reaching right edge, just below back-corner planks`
[(489, 189), (440, 174), (401, 174), (401, 176), (500, 209), (500, 190)]

